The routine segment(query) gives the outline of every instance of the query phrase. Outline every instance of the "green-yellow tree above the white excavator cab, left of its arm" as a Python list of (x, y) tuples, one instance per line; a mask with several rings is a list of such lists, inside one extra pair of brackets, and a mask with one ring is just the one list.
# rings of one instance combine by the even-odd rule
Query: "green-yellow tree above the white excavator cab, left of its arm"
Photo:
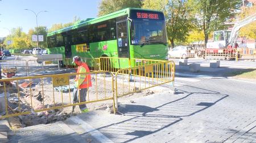
[(224, 28), (224, 21), (237, 9), (240, 0), (195, 0), (193, 7), (197, 14), (197, 26), (204, 31), (206, 46), (210, 32)]

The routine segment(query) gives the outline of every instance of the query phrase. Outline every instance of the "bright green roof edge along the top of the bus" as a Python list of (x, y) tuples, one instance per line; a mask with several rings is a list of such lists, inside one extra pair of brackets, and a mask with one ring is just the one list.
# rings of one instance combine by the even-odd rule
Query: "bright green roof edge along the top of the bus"
[(57, 31), (50, 32), (50, 33), (47, 34), (47, 36), (52, 36), (52, 35), (57, 34), (57, 33), (62, 33), (62, 32), (65, 32), (65, 31), (69, 31), (71, 29), (76, 29), (76, 28), (82, 27), (84, 25), (94, 24), (94, 23), (98, 23), (98, 22), (101, 22), (101, 21), (104, 21), (104, 20), (108, 20), (108, 19), (112, 19), (112, 18), (117, 18), (119, 16), (127, 15), (130, 10), (146, 10), (146, 11), (160, 12), (160, 11), (157, 11), (157, 10), (148, 10), (148, 9), (142, 9), (142, 8), (125, 8), (123, 10), (119, 10), (119, 11), (116, 11), (116, 12), (113, 12), (113, 13), (110, 13), (110, 14), (107, 14), (107, 15), (103, 15), (103, 16), (100, 16), (98, 18), (88, 18), (88, 19), (85, 19), (85, 20), (77, 21), (72, 26), (65, 27), (63, 29), (59, 29)]

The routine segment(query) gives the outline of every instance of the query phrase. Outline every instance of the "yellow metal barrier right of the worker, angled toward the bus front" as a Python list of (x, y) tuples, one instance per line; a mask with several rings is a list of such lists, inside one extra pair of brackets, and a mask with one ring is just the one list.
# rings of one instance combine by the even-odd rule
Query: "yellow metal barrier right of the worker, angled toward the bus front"
[(174, 77), (175, 63), (172, 61), (121, 69), (115, 73), (115, 96), (118, 99), (154, 86), (171, 83), (174, 82)]

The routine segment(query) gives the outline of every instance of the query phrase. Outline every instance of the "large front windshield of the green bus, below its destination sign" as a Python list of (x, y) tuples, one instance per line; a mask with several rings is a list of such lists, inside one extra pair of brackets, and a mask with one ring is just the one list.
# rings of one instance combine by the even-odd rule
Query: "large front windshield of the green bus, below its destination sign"
[(167, 44), (164, 20), (136, 19), (131, 23), (131, 44)]

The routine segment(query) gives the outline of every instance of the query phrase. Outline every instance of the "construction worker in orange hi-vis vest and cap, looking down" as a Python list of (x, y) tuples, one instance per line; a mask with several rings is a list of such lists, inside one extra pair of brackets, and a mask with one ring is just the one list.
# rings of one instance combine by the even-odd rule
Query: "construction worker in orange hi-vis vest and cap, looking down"
[[(77, 73), (89, 72), (89, 68), (87, 64), (82, 62), (79, 56), (73, 57), (73, 63), (79, 66), (77, 68)], [(80, 97), (80, 102), (85, 102), (87, 90), (90, 86), (92, 86), (90, 74), (76, 75), (75, 81), (76, 81), (76, 84), (75, 84), (75, 89), (73, 91), (73, 103), (79, 102), (79, 97)], [(89, 111), (85, 104), (79, 105), (79, 108), (81, 112)], [(75, 106), (73, 106), (72, 112), (74, 111), (74, 109), (75, 109)]]

